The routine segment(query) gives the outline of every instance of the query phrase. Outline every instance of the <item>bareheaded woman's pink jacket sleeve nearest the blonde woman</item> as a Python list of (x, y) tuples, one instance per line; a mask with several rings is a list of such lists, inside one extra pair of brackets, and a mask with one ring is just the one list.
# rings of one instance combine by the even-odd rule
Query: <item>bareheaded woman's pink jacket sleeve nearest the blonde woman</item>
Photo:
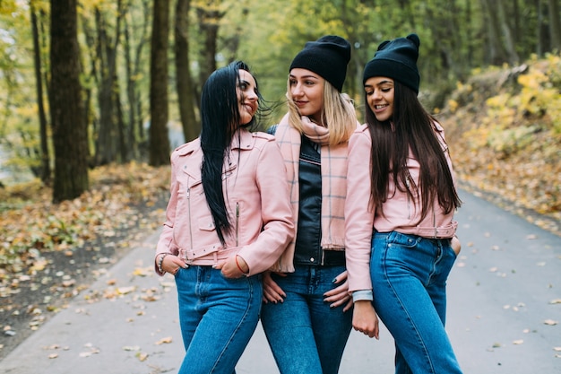
[(238, 255), (249, 265), (249, 274), (270, 268), (294, 237), (289, 182), (279, 146), (270, 139), (263, 145), (256, 165), (263, 230), (255, 242), (240, 248)]

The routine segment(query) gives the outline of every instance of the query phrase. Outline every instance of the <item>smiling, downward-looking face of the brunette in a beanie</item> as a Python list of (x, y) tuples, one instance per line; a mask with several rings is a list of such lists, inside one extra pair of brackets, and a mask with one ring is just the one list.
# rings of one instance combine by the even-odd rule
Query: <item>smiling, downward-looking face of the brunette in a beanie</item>
[(364, 91), (367, 93), (368, 107), (380, 122), (393, 118), (393, 97), (395, 87), (392, 78), (374, 76), (364, 83)]

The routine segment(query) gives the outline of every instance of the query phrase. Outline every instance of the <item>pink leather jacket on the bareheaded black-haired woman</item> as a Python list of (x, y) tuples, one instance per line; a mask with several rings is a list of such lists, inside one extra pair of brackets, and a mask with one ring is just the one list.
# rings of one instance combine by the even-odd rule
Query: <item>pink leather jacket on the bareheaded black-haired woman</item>
[(294, 236), (289, 185), (274, 136), (240, 129), (233, 137), (222, 174), (232, 223), (224, 246), (204, 196), (202, 160), (200, 139), (171, 155), (170, 197), (156, 257), (170, 252), (188, 265), (215, 265), (237, 254), (249, 265), (248, 275), (267, 270)]

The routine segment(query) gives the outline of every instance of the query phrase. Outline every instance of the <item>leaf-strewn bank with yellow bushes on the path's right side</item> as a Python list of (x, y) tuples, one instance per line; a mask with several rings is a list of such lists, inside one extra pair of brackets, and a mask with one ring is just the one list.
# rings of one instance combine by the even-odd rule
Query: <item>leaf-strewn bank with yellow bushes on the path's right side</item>
[(560, 61), (559, 55), (549, 55), (514, 68), (481, 70), (458, 84), (442, 119), (463, 184), (557, 221)]

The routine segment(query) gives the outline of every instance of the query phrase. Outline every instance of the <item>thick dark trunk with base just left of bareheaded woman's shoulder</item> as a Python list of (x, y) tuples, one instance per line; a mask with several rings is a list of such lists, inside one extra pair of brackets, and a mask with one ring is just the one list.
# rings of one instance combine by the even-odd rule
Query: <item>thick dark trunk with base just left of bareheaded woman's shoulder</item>
[(168, 35), (169, 0), (154, 0), (150, 62), (150, 164), (169, 163)]

